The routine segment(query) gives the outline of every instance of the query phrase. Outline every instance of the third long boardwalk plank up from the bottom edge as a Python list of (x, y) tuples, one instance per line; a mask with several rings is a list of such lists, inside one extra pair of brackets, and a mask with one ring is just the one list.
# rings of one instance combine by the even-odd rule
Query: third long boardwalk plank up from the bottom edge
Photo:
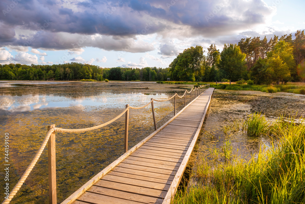
[(107, 180), (99, 180), (94, 184), (95, 186), (101, 186), (105, 188), (111, 188), (114, 190), (124, 189), (125, 192), (136, 193), (138, 195), (149, 195), (155, 198), (164, 198), (167, 191), (161, 191), (152, 188), (133, 186), (128, 184), (120, 184), (117, 182), (107, 181)]

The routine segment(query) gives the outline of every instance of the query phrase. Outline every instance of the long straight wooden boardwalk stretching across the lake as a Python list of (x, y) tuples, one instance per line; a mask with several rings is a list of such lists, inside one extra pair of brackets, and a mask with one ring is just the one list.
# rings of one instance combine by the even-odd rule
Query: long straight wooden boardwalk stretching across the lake
[(214, 88), (89, 180), (62, 204), (170, 203), (196, 143)]

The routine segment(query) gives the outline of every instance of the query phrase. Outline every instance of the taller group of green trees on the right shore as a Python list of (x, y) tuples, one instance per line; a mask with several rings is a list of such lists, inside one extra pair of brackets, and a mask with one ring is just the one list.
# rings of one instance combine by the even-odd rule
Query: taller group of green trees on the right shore
[(241, 39), (238, 44), (224, 44), (222, 52), (215, 45), (190, 47), (169, 65), (171, 79), (180, 81), (253, 80), (270, 84), (305, 80), (304, 30), (283, 35)]

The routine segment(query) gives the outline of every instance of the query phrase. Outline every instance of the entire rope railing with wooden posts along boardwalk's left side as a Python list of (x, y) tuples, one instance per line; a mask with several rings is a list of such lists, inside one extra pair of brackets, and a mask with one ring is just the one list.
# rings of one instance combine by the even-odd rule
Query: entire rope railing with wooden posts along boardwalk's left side
[[(55, 125), (48, 126), (48, 132), (47, 132), (47, 134), (45, 136), (45, 139), (43, 140), (40, 148), (38, 149), (38, 152), (36, 153), (35, 157), (31, 161), (30, 165), (27, 167), (27, 169), (25, 170), (25, 172), (21, 176), (20, 180), (13, 187), (13, 190), (5, 198), (5, 200), (2, 202), (2, 204), (9, 204), (10, 201), (13, 199), (13, 197), (16, 195), (16, 193), (19, 191), (19, 189), (21, 188), (21, 186), (23, 185), (23, 183), (25, 182), (25, 180), (29, 176), (30, 172), (32, 171), (32, 169), (36, 165), (36, 163), (37, 163), (38, 159), (40, 158), (43, 150), (45, 149), (45, 146), (47, 145), (47, 143), (48, 143), (48, 163), (49, 163), (49, 197), (50, 197), (49, 199), (50, 199), (50, 203), (52, 203), (52, 204), (57, 203), (57, 201), (56, 201), (56, 169), (55, 169), (56, 168), (55, 167), (55, 132), (74, 133), (74, 132), (87, 132), (87, 131), (91, 131), (91, 130), (96, 130), (96, 129), (99, 129), (99, 128), (105, 127), (106, 125), (111, 124), (112, 122), (119, 119), (125, 113), (124, 152), (126, 153), (127, 150), (128, 150), (127, 146), (128, 146), (129, 109), (142, 109), (142, 108), (145, 108), (146, 106), (149, 106), (149, 104), (151, 104), (151, 106), (152, 106), (152, 116), (153, 116), (154, 126), (155, 126), (155, 130), (156, 130), (157, 129), (156, 128), (156, 118), (155, 118), (155, 112), (154, 112), (154, 107), (153, 107), (153, 101), (165, 102), (165, 101), (168, 101), (172, 98), (175, 98), (174, 115), (176, 115), (176, 96), (178, 96), (179, 98), (182, 98), (183, 96), (185, 96), (185, 106), (186, 106), (186, 94), (187, 93), (191, 93), (191, 101), (192, 101), (192, 91), (195, 91), (195, 98), (196, 98), (196, 90), (199, 90), (199, 88), (200, 88), (200, 92), (203, 93), (204, 91), (206, 91), (207, 87), (210, 87), (210, 84), (206, 84), (206, 85), (203, 85), (203, 86), (200, 86), (200, 87), (196, 87), (194, 89), (192, 88), (190, 92), (188, 92), (185, 89), (185, 92), (182, 96), (179, 96), (177, 93), (175, 93), (172, 97), (170, 97), (166, 100), (158, 100), (158, 99), (151, 98), (151, 101), (149, 103), (147, 103), (146, 105), (141, 106), (141, 107), (133, 107), (133, 106), (129, 106), (129, 104), (127, 104), (125, 110), (123, 112), (121, 112), (117, 117), (113, 118), (112, 120), (110, 120), (106, 123), (103, 123), (103, 124), (100, 124), (100, 125), (97, 125), (97, 126), (93, 126), (93, 127), (90, 127), (90, 128), (64, 129), (64, 128), (56, 128)], [(199, 93), (198, 93), (198, 95), (199, 95)]]

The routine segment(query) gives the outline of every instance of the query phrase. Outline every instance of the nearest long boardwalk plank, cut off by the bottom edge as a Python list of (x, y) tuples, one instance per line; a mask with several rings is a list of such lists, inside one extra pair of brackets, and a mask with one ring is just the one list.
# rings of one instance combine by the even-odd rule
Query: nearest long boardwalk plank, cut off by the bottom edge
[(85, 192), (77, 200), (85, 201), (93, 204), (102, 204), (102, 203), (118, 203), (118, 204), (140, 204), (140, 202), (125, 200), (121, 198), (110, 197), (107, 195), (100, 195), (91, 192)]

